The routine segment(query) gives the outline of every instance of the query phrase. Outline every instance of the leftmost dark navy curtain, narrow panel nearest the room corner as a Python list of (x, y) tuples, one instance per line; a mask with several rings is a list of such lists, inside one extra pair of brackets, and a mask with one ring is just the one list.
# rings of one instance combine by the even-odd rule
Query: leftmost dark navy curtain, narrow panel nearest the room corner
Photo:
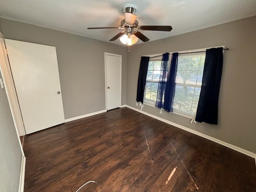
[(137, 102), (143, 103), (144, 90), (145, 90), (146, 78), (148, 73), (148, 62), (149, 62), (149, 57), (144, 57), (144, 56), (141, 57), (138, 86), (137, 86), (137, 98), (136, 98)]

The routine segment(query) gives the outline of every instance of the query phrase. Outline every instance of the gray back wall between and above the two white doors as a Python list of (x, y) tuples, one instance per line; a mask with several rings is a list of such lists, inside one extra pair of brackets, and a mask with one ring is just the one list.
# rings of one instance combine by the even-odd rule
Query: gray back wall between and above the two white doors
[(126, 104), (127, 47), (5, 18), (0, 22), (5, 38), (56, 47), (65, 119), (106, 108), (104, 52), (122, 55)]

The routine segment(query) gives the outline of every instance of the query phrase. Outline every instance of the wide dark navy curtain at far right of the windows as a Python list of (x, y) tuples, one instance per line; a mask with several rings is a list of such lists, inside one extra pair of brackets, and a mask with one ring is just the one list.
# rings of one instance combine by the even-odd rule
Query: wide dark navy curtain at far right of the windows
[(197, 122), (218, 123), (218, 98), (222, 74), (223, 48), (206, 50), (202, 87), (196, 112)]

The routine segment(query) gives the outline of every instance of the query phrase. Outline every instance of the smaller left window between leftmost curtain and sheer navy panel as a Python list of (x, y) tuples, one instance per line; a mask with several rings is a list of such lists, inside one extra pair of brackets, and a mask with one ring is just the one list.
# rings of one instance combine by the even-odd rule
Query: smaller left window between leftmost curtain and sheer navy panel
[(148, 63), (148, 74), (146, 78), (145, 96), (146, 103), (156, 105), (158, 82), (160, 78), (162, 58), (150, 59)]

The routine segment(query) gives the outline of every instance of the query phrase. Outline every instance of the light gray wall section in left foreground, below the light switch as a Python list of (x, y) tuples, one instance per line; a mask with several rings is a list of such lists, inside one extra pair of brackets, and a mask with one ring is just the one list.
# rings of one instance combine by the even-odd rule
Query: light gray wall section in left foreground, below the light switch
[(22, 151), (5, 88), (0, 88), (0, 133), (0, 191), (18, 192)]

